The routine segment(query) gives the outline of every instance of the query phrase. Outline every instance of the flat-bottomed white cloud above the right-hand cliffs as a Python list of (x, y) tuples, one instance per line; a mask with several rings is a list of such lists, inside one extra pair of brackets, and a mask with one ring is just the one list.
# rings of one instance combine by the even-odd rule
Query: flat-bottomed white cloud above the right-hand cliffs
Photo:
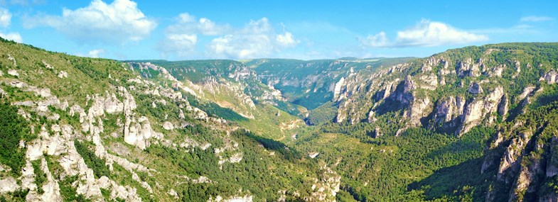
[(413, 28), (398, 31), (393, 42), (387, 39), (385, 33), (380, 32), (369, 35), (360, 40), (360, 43), (370, 47), (409, 47), (476, 43), (485, 40), (488, 40), (486, 35), (459, 30), (446, 23), (422, 20)]

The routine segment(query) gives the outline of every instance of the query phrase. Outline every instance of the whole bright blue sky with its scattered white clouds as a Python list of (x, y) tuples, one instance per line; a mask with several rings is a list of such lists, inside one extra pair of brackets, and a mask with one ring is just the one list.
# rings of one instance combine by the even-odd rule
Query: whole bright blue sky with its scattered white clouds
[(115, 60), (427, 57), (558, 42), (558, 1), (0, 0), (0, 37)]

